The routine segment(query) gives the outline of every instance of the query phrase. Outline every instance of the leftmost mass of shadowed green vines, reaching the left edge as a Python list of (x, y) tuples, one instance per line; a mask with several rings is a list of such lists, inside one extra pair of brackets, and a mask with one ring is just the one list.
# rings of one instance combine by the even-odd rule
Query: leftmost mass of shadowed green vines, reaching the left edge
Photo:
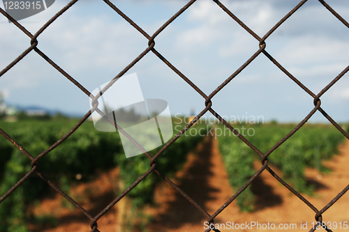
[[(77, 121), (19, 121), (1, 122), (1, 129), (36, 157), (64, 136)], [(117, 133), (103, 133), (85, 122), (61, 146), (38, 161), (38, 171), (59, 184), (68, 193), (70, 180), (77, 173), (95, 173), (114, 167), (115, 154), (122, 153)], [(31, 169), (31, 160), (4, 137), (0, 137), (0, 194), (5, 194)], [(0, 204), (0, 231), (26, 231), (26, 206), (39, 199), (49, 185), (35, 174)], [(25, 194), (24, 194), (25, 193)]]

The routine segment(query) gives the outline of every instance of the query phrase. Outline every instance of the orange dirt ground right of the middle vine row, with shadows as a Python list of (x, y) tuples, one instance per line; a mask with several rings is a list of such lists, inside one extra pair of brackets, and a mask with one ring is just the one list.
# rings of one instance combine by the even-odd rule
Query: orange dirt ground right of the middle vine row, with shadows
[[(340, 155), (335, 155), (332, 160), (325, 162), (325, 166), (332, 172), (325, 175), (315, 169), (306, 169), (306, 177), (316, 186), (313, 196), (304, 195), (319, 210), (327, 205), (349, 184), (349, 142), (339, 148)], [(256, 168), (261, 164), (256, 162)], [(276, 171), (276, 170), (274, 170)], [(281, 173), (276, 171), (281, 176)], [(197, 155), (192, 155), (184, 171), (179, 173), (179, 187), (187, 192), (196, 202), (200, 204), (210, 215), (234, 194), (228, 183), (228, 176), (221, 155), (218, 151), (216, 139), (210, 138)], [(278, 229), (279, 224), (296, 224), (297, 231), (309, 231), (313, 226), (315, 212), (306, 206), (297, 196), (292, 194), (281, 185), (269, 172), (263, 171), (255, 181), (252, 190), (257, 196), (255, 212), (239, 212), (239, 208), (233, 201), (215, 219), (220, 224), (220, 231), (232, 231), (230, 222), (235, 224), (249, 224), (250, 229), (236, 229), (234, 231), (271, 231), (272, 224)], [(205, 217), (183, 196), (172, 193), (170, 190), (159, 194), (158, 202), (165, 205), (165, 212), (158, 212), (156, 222), (149, 225), (149, 231), (205, 231)], [(235, 190), (237, 191), (237, 190)], [(173, 197), (172, 195), (175, 195)], [(168, 197), (170, 196), (170, 197)], [(335, 231), (348, 231), (344, 222), (349, 223), (349, 194), (337, 201), (323, 215), (323, 222), (336, 222)], [(228, 222), (228, 223), (227, 223)], [(260, 226), (251, 227), (253, 222)], [(263, 224), (269, 229), (261, 229)], [(302, 228), (301, 228), (302, 223)], [(339, 227), (341, 223), (342, 229)], [(221, 224), (225, 224), (224, 226)], [(306, 224), (306, 225), (304, 225)], [(286, 225), (284, 226), (286, 227)], [(291, 228), (291, 226), (289, 226)], [(280, 228), (282, 229), (282, 228)], [(295, 227), (294, 227), (295, 229)]]

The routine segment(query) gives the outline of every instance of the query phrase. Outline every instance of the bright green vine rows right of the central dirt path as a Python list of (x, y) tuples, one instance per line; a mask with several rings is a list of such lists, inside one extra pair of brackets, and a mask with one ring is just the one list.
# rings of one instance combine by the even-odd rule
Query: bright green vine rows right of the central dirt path
[[(236, 130), (251, 130), (243, 134), (248, 141), (262, 153), (285, 137), (295, 125), (237, 125)], [(220, 127), (221, 130), (228, 130)], [(252, 132), (253, 131), (253, 132)], [(297, 192), (312, 194), (314, 187), (307, 183), (304, 176), (306, 167), (313, 167), (321, 172), (328, 172), (322, 160), (329, 160), (338, 153), (338, 146), (343, 142), (341, 132), (332, 125), (306, 125), (285, 141), (269, 155), (269, 165), (279, 168), (282, 178), (292, 185)], [(230, 184), (235, 191), (239, 190), (255, 173), (253, 163), (259, 156), (235, 134), (231, 132), (218, 137), (219, 148), (227, 169)], [(237, 198), (237, 204), (243, 211), (252, 211), (254, 196), (251, 186)]]

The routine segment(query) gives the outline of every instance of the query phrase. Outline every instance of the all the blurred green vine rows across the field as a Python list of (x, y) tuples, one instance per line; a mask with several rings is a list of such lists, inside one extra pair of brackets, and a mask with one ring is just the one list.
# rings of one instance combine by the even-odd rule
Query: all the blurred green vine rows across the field
[[(1, 129), (36, 157), (66, 134), (75, 123), (77, 122), (72, 119), (1, 122)], [(179, 130), (179, 127), (184, 125), (177, 123), (174, 128)], [(262, 153), (266, 153), (294, 126), (276, 123), (235, 125), (236, 130), (242, 133), (243, 128), (246, 130), (244, 137)], [(258, 155), (227, 128), (214, 125), (214, 129), (230, 185), (233, 191), (237, 191), (255, 173)], [(209, 126), (203, 123), (191, 127), (156, 160), (158, 170), (166, 176), (174, 176), (186, 163), (188, 151), (203, 141), (202, 134), (208, 134), (207, 130)], [(322, 165), (322, 160), (329, 160), (338, 152), (337, 148), (343, 138), (343, 135), (330, 125), (305, 125), (269, 155), (269, 165), (280, 170), (281, 177), (295, 190), (313, 194), (314, 187), (306, 181), (304, 170), (313, 167), (321, 172), (329, 172), (330, 170)], [(160, 148), (151, 150), (150, 154), (154, 155)], [(3, 195), (31, 169), (31, 162), (5, 138), (0, 139), (0, 149), (0, 194)], [(118, 133), (98, 132), (91, 122), (85, 122), (62, 146), (52, 150), (39, 162), (40, 171), (67, 193), (71, 183), (77, 179), (89, 182), (94, 179), (94, 174), (119, 167), (117, 194), (120, 194), (149, 169), (149, 159), (145, 155), (126, 159)], [(156, 174), (151, 173), (125, 197), (132, 208), (132, 217), (124, 215), (123, 221), (124, 226), (128, 226), (130, 231), (135, 218), (141, 217), (140, 212), (144, 204), (153, 202), (154, 190), (160, 180)], [(29, 231), (27, 224), (29, 220), (35, 221), (35, 217), (28, 215), (27, 208), (30, 203), (40, 202), (49, 190), (50, 187), (35, 175), (25, 181), (0, 204), (0, 231)], [(255, 196), (251, 186), (238, 196), (237, 205), (242, 211), (254, 210)]]

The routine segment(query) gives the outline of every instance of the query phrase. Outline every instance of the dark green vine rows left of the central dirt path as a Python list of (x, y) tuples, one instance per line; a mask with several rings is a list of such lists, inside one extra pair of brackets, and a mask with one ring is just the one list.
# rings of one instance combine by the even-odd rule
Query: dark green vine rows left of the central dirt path
[[(1, 129), (36, 157), (76, 123), (73, 120), (1, 122)], [(188, 150), (195, 148), (201, 140), (200, 136), (177, 139), (157, 160), (158, 170), (171, 176), (186, 161)], [(154, 155), (160, 148), (151, 150), (150, 154)], [(31, 161), (4, 137), (0, 139), (0, 150), (2, 196), (31, 169)], [(120, 194), (149, 169), (149, 159), (145, 155), (126, 159), (118, 133), (98, 132), (93, 123), (85, 122), (62, 146), (40, 159), (39, 166), (39, 170), (66, 193), (69, 192), (70, 183), (77, 178), (88, 181), (98, 171), (119, 167)], [(127, 199), (130, 199), (133, 210), (142, 208), (144, 203), (151, 203), (154, 187), (159, 180), (161, 178), (151, 173), (129, 192)], [(29, 219), (33, 221), (33, 215), (26, 215), (27, 206), (40, 200), (49, 189), (49, 185), (36, 175), (25, 181), (0, 204), (0, 231), (29, 231), (27, 222)]]

